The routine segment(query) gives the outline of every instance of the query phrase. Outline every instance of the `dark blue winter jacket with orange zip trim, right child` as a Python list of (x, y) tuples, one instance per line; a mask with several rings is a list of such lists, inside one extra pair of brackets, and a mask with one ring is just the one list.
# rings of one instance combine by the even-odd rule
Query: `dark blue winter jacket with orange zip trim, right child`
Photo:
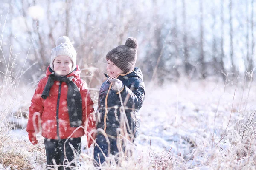
[[(139, 109), (145, 99), (145, 85), (142, 72), (140, 68), (134, 68), (133, 71), (119, 74), (116, 78), (121, 80), (124, 85), (120, 94), (111, 89), (112, 84), (108, 80), (103, 82), (100, 88), (97, 128), (102, 128), (110, 136), (117, 136), (121, 130), (120, 126), (124, 129), (123, 122), (126, 122), (125, 128), (127, 132), (137, 137), (139, 136), (140, 127)], [(125, 112), (122, 111), (121, 101)]]

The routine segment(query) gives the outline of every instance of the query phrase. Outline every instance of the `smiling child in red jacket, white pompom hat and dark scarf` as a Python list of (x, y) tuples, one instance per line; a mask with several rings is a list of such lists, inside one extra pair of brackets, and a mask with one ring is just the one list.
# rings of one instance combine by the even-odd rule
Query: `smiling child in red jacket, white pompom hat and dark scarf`
[(76, 50), (68, 37), (56, 41), (46, 77), (39, 81), (31, 102), (27, 132), (30, 142), (37, 144), (36, 134), (41, 129), (47, 167), (57, 164), (63, 169), (70, 162), (75, 166), (74, 153), (81, 153), (81, 136), (87, 134), (88, 147), (92, 144), (88, 135), (95, 120), (93, 101), (86, 82), (80, 79)]

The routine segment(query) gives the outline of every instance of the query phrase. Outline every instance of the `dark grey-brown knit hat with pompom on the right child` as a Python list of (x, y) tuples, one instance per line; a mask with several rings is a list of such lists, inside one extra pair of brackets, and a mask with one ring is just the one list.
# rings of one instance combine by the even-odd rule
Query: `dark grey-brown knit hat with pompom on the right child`
[(135, 38), (128, 38), (125, 45), (113, 48), (106, 55), (107, 61), (110, 60), (125, 73), (132, 71), (137, 60), (138, 42)]

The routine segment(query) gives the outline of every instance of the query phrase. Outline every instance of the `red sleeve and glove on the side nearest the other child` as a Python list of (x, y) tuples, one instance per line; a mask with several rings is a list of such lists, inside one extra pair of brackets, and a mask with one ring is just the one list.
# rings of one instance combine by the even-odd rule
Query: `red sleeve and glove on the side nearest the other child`
[(82, 97), (83, 125), (85, 128), (85, 134), (87, 136), (88, 147), (90, 147), (90, 145), (93, 143), (93, 140), (90, 138), (90, 135), (93, 136), (93, 139), (95, 139), (93, 130), (96, 129), (96, 118), (93, 108), (93, 100), (90, 97), (90, 92), (85, 82), (82, 85), (80, 93)]

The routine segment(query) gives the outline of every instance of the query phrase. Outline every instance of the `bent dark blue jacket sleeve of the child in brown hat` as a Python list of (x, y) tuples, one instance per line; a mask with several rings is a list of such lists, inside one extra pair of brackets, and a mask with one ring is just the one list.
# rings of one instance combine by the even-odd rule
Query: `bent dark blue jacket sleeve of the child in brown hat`
[[(117, 92), (118, 94), (118, 92)], [(140, 79), (135, 79), (131, 83), (131, 88), (124, 85), (120, 92), (124, 105), (128, 108), (139, 110), (145, 99), (145, 85)]]

